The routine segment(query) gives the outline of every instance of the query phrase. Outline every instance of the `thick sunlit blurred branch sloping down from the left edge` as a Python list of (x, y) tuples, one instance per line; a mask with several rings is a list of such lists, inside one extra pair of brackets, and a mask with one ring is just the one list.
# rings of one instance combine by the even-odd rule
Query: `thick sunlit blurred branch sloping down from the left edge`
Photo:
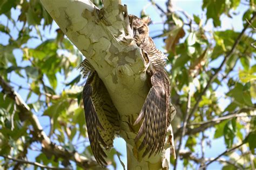
[(58, 146), (51, 142), (50, 138), (43, 131), (41, 124), (35, 114), (30, 111), (29, 106), (24, 102), (24, 100), (19, 96), (19, 94), (12, 89), (12, 87), (6, 83), (6, 81), (0, 76), (0, 86), (3, 88), (3, 93), (7, 94), (12, 100), (15, 101), (17, 108), (19, 109), (19, 117), (22, 121), (30, 121), (34, 132), (33, 137), (40, 141), (43, 147), (43, 152), (47, 154), (55, 155), (57, 158), (63, 158), (65, 160), (73, 160), (77, 165), (84, 168), (91, 168), (97, 166), (97, 162), (89, 160), (86, 157), (79, 155), (76, 151), (69, 152), (62, 146)]

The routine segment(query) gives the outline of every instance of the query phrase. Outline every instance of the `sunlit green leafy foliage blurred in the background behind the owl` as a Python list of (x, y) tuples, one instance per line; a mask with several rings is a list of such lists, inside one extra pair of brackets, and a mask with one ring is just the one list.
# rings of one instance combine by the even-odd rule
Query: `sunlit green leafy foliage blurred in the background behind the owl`
[[(95, 3), (102, 6), (100, 1)], [(167, 16), (167, 26), (159, 37), (165, 37), (167, 63), (171, 65), (172, 102), (178, 112), (174, 131), (177, 139), (185, 143), (185, 149), (192, 152), (187, 157), (180, 153), (186, 167), (194, 163), (205, 165), (209, 160), (204, 158), (204, 149), (199, 152), (196, 148), (203, 143), (211, 145), (211, 140), (218, 138), (223, 139), (227, 149), (245, 144), (239, 152), (228, 153), (226, 161), (220, 161), (224, 164), (223, 169), (251, 168), (252, 162), (256, 163), (252, 155), (256, 140), (256, 49), (251, 45), (255, 42), (253, 26), (256, 21), (250, 23), (241, 39), (238, 39), (241, 31), (218, 29), (223, 24), (220, 17), (238, 15), (241, 3), (244, 4), (239, 0), (204, 0), (202, 8), (206, 18), (189, 17), (175, 10), (163, 13)], [(247, 10), (240, 24), (246, 26), (255, 15), (255, 4), (246, 1), (244, 5)], [(8, 39), (0, 44), (0, 76), (14, 86), (30, 111), (41, 118), (43, 130), (48, 132), (54, 144), (70, 153), (79, 151), (93, 161), (81, 103), (84, 79), (78, 72), (74, 73), (82, 62), (82, 55), (61, 30), (52, 30), (52, 18), (38, 0), (1, 1), (0, 15), (6, 18), (6, 22), (0, 22), (0, 36)], [(214, 26), (209, 31), (205, 25), (211, 22)], [(49, 31), (54, 36), (49, 36)], [(33, 46), (33, 41), (39, 45)], [(235, 43), (238, 44), (234, 47)], [(72, 159), (56, 158), (44, 151), (39, 145), (42, 141), (35, 137), (31, 121), (4, 91), (3, 84), (0, 90), (3, 90), (0, 93), (0, 157), (10, 155), (30, 160), (29, 153), (36, 151), (32, 160), (43, 165), (83, 167), (71, 164)], [(184, 120), (187, 121), (185, 136), (178, 128)], [(205, 139), (211, 137), (207, 134), (208, 128), (214, 135), (206, 142)], [(109, 156), (114, 168), (116, 154), (119, 158), (120, 154), (113, 149)], [(198, 154), (203, 159), (194, 158)], [(175, 166), (174, 160), (172, 162)], [(235, 163), (227, 165), (227, 162)], [(2, 168), (28, 166), (0, 159)]]

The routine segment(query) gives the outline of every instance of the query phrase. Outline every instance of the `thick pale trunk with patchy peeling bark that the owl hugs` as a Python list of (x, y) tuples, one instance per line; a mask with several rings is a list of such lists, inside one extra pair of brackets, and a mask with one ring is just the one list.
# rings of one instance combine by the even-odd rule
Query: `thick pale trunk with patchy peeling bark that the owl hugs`
[(141, 49), (131, 38), (124, 6), (117, 0), (104, 0), (101, 10), (89, 0), (41, 2), (60, 29), (89, 60), (109, 91), (122, 118), (120, 136), (126, 141), (127, 168), (162, 168), (161, 155), (142, 159), (142, 153), (133, 147), (139, 129), (133, 123), (150, 87), (145, 73), (146, 63)]

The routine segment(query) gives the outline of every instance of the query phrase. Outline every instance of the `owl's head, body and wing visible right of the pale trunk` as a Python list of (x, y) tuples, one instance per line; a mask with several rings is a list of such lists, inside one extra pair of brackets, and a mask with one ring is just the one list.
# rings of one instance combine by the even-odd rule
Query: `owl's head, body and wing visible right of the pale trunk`
[[(176, 114), (175, 108), (170, 102), (170, 81), (165, 71), (166, 56), (156, 49), (152, 38), (149, 36), (149, 18), (138, 18), (130, 15), (131, 28), (136, 43), (142, 48), (145, 60), (149, 60), (150, 66), (147, 72), (151, 77), (151, 89), (147, 94), (145, 103), (134, 125), (143, 120), (142, 126), (134, 139), (136, 142), (143, 137), (139, 151), (144, 149), (143, 157), (163, 150), (167, 128)], [(172, 136), (173, 138), (173, 136)], [(170, 141), (171, 142), (171, 141)], [(173, 144), (171, 144), (173, 146)], [(174, 148), (172, 148), (172, 152)], [(174, 153), (173, 153), (174, 154)]]

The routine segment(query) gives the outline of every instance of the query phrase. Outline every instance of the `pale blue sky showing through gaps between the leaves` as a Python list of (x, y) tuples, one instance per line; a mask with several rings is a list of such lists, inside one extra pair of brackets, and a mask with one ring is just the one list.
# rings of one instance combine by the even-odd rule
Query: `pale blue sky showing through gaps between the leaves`
[[(165, 2), (166, 1), (155, 1), (157, 4), (159, 4), (164, 10), (166, 10), (166, 5)], [(155, 6), (150, 5), (151, 3), (149, 3), (149, 1), (146, 0), (125, 0), (122, 1), (122, 4), (126, 4), (127, 5), (127, 9), (129, 11), (129, 13), (133, 14), (133, 15), (137, 15), (140, 16), (140, 11), (144, 8), (146, 14), (150, 15), (153, 24), (150, 25), (150, 36), (156, 36), (159, 35), (161, 33), (161, 31), (163, 30), (163, 19), (161, 19), (160, 17), (160, 12), (156, 9)], [(180, 1), (173, 1), (173, 5), (174, 8), (176, 9), (182, 9), (184, 11), (186, 11), (188, 13), (188, 15), (193, 16), (193, 15), (198, 15), (201, 19), (203, 19), (203, 21), (206, 21), (206, 16), (205, 13), (203, 12), (203, 10), (201, 9), (201, 5), (202, 5), (202, 1), (199, 0), (180, 0)], [(146, 8), (145, 8), (146, 6)], [(224, 15), (222, 15), (221, 18), (221, 28), (217, 28), (218, 30), (226, 30), (226, 29), (234, 29), (235, 31), (240, 31), (242, 29), (242, 25), (241, 25), (241, 15), (242, 13), (244, 13), (244, 11), (246, 10), (246, 7), (244, 5), (240, 5), (238, 10), (239, 15), (233, 17), (233, 19), (228, 18)], [(12, 18), (17, 20), (17, 17), (19, 15), (19, 11), (17, 10), (13, 10), (12, 9)], [(6, 18), (3, 16), (0, 16), (0, 23), (6, 25)], [(18, 28), (21, 28), (22, 23), (17, 23)], [(46, 31), (44, 31), (44, 39), (46, 38), (54, 38), (56, 37), (56, 32), (55, 30), (58, 28), (56, 23), (53, 23), (52, 25), (52, 29), (50, 30), (49, 27), (46, 28)], [(212, 21), (210, 19), (210, 21), (207, 22), (206, 24), (206, 30), (212, 30), (213, 29), (213, 24)], [(12, 30), (12, 34), (15, 36), (17, 36), (17, 31)], [(36, 35), (36, 31), (34, 30), (32, 32), (32, 34)], [(163, 42), (163, 38), (157, 38), (154, 39), (154, 42), (156, 43), (158, 49), (160, 49), (161, 51), (164, 51), (163, 46), (164, 46), (164, 42)], [(3, 33), (0, 33), (0, 44), (4, 44), (6, 45), (6, 43), (8, 43), (8, 37), (6, 35), (4, 35)], [(38, 44), (41, 43), (41, 40), (38, 40), (36, 38), (33, 38), (31, 40), (29, 40), (28, 42), (28, 46), (29, 47), (36, 47)], [(22, 62), (22, 51), (21, 50), (15, 50), (14, 51), (14, 55), (17, 59), (17, 63), (19, 64), (19, 66), (26, 66), (28, 65), (28, 63), (26, 62)], [(220, 60), (216, 60), (212, 66), (218, 66), (220, 63)], [(237, 66), (239, 67), (239, 65)], [(237, 68), (238, 70), (238, 68)], [(77, 70), (74, 70), (73, 73), (69, 76), (69, 80), (72, 80), (74, 77), (76, 77), (76, 75), (78, 75), (79, 72)], [(237, 73), (233, 73), (233, 76), (237, 76)], [(24, 79), (19, 78), (18, 76), (11, 75), (12, 78), (16, 79), (16, 82), (24, 82)], [(57, 86), (57, 92), (61, 93), (64, 87), (64, 83), (65, 80), (63, 79), (63, 77), (58, 74), (57, 75), (58, 78), (58, 86)], [(46, 78), (44, 78), (45, 83), (49, 84), (48, 80)], [(26, 82), (24, 82), (24, 84), (26, 84)], [(15, 86), (14, 84), (12, 84), (13, 86)], [(18, 87), (15, 86), (15, 89), (18, 90)], [(218, 95), (219, 97), (221, 97), (225, 92), (227, 92), (227, 87), (225, 87), (225, 82), (223, 83), (223, 87), (219, 90)], [(28, 91), (26, 90), (19, 90), (19, 94), (21, 94), (22, 98), (25, 100), (26, 96), (28, 94)], [(34, 96), (31, 97), (31, 100), (29, 101), (30, 103), (32, 103), (33, 101), (36, 101), (37, 98)], [(226, 105), (228, 105), (228, 101), (225, 100), (224, 98), (221, 98), (221, 103), (224, 103), (224, 105), (222, 105), (223, 108), (226, 107)], [(49, 127), (48, 127), (48, 123), (49, 123), (49, 118), (48, 117), (42, 117), (41, 116), (42, 112), (38, 112), (38, 116), (39, 116), (39, 121), (42, 124), (44, 128), (44, 130), (46, 131), (46, 133), (49, 133)], [(214, 134), (214, 130), (210, 129), (206, 131), (206, 135), (209, 136), (210, 139), (213, 139), (213, 134)], [(185, 143), (185, 142), (183, 142)], [(40, 146), (37, 146), (40, 147)], [(126, 165), (126, 146), (125, 146), (125, 141), (121, 138), (116, 138), (114, 140), (114, 148), (116, 148), (116, 150), (120, 153), (122, 153), (122, 161), (124, 162), (124, 164)], [(184, 148), (184, 146), (183, 146)], [(216, 140), (212, 141), (212, 146), (208, 147), (206, 146), (206, 152), (205, 152), (205, 157), (206, 158), (213, 158), (213, 157), (217, 157), (217, 155), (219, 155), (220, 153), (222, 153), (223, 151), (226, 150), (226, 147), (224, 145), (224, 138), (219, 138)], [(200, 147), (196, 147), (196, 151), (197, 153), (200, 153)], [(37, 155), (38, 152), (35, 151), (30, 151), (28, 154), (28, 159), (30, 161), (33, 161), (35, 159), (35, 155)], [(119, 160), (116, 157), (116, 162), (118, 163)], [(178, 169), (181, 169), (183, 166), (181, 165), (181, 161), (178, 162)], [(112, 169), (112, 167), (109, 167), (110, 169)], [(208, 166), (208, 169), (220, 169), (221, 165), (218, 162), (215, 162), (213, 164), (211, 164), (210, 166)], [(117, 164), (117, 169), (122, 169), (122, 166), (120, 164)]]

